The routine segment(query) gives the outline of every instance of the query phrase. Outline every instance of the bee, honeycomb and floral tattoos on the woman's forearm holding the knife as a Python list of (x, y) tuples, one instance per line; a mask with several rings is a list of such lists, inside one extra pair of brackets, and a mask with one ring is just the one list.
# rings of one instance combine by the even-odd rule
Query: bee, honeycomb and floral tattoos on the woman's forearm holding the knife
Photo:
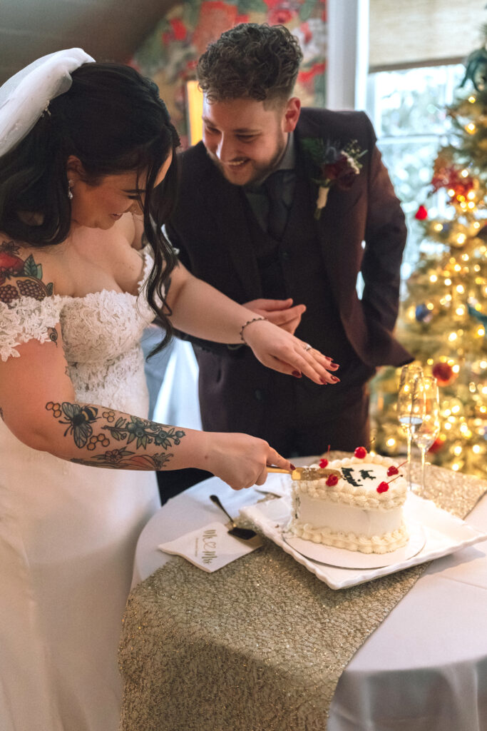
[[(91, 404), (48, 401), (45, 407), (63, 426), (66, 438), (72, 439), (78, 449), (91, 452), (71, 460), (77, 464), (112, 469), (163, 469), (173, 456), (169, 450), (185, 436), (184, 431), (173, 426)], [(147, 451), (150, 445), (159, 447), (160, 451), (153, 448)]]

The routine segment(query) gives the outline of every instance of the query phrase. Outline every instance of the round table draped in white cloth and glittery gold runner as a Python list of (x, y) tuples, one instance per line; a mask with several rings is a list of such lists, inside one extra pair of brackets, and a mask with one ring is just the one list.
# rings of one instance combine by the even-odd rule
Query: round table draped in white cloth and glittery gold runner
[[(429, 474), (447, 506), (452, 479), (474, 501), (487, 488)], [(487, 729), (487, 542), (401, 572), (398, 603), (398, 575), (333, 591), (267, 541), (209, 575), (156, 547), (224, 522), (215, 492), (232, 515), (262, 498), (212, 478), (140, 536), (120, 643), (122, 731)], [(467, 521), (487, 529), (487, 496)]]

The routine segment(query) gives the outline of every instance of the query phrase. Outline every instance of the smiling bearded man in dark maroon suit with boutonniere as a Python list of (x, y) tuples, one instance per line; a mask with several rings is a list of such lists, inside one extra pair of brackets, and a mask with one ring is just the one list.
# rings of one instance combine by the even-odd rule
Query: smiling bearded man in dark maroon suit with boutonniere
[(196, 343), (203, 428), (260, 436), (288, 457), (369, 446), (367, 381), (412, 360), (391, 334), (404, 215), (372, 125), (302, 108), (301, 60), (284, 26), (243, 23), (207, 48), (203, 141), (182, 155), (167, 226), (193, 274), (340, 364), (340, 382), (320, 387), (269, 371), (245, 345)]

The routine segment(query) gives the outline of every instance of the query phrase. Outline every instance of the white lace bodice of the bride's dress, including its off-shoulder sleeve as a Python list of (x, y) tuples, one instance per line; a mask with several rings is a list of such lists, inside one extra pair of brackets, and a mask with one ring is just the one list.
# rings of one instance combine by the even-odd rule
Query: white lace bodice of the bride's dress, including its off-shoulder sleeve
[(16, 346), (31, 338), (48, 341), (50, 328), (59, 322), (77, 399), (145, 415), (140, 413), (146, 387), (139, 342), (154, 314), (145, 300), (153, 261), (147, 247), (142, 255), (138, 296), (104, 289), (83, 298), (53, 295), (40, 301), (23, 297), (14, 306), (0, 303), (1, 360), (19, 357)]

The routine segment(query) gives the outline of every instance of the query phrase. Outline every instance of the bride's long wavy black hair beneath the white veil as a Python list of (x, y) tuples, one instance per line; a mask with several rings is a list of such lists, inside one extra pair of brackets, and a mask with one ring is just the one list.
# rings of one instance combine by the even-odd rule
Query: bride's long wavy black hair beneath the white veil
[[(0, 230), (31, 246), (64, 241), (71, 226), (66, 162), (80, 159), (85, 182), (96, 186), (105, 175), (137, 170), (144, 178), (144, 228), (153, 249), (154, 266), (147, 296), (172, 335), (164, 307), (164, 285), (176, 264), (162, 225), (175, 204), (179, 137), (158, 88), (135, 69), (119, 64), (83, 64), (72, 72), (69, 91), (55, 97), (31, 132), (0, 157)], [(154, 187), (168, 156), (164, 181)], [(37, 213), (40, 223), (26, 222)], [(159, 348), (158, 348), (159, 349)]]

